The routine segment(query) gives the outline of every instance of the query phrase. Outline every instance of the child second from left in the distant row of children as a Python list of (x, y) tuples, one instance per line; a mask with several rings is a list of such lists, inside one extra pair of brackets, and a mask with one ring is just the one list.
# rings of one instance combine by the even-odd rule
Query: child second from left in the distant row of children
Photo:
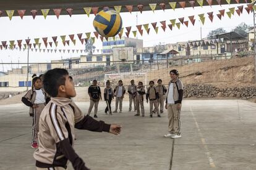
[(105, 113), (109, 115), (112, 115), (112, 111), (111, 111), (111, 101), (112, 99), (114, 99), (114, 92), (113, 89), (111, 87), (110, 81), (106, 82), (106, 88), (104, 89), (104, 100), (106, 101), (106, 109), (105, 109)]

